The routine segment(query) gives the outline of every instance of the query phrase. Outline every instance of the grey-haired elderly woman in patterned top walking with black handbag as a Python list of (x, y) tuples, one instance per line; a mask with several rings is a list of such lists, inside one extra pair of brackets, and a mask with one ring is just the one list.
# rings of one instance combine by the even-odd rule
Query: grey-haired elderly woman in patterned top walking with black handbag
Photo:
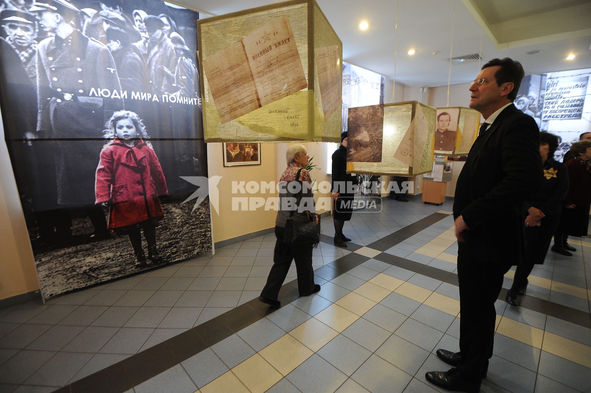
[[(310, 157), (304, 145), (294, 144), (287, 148), (285, 158), (287, 168), (281, 175), (278, 184), (281, 195), (280, 209), (277, 212), (277, 219), (275, 219), (277, 242), (275, 242), (273, 252), (273, 266), (269, 271), (267, 284), (265, 284), (259, 297), (260, 301), (269, 304), (272, 308), (281, 307), (281, 302), (278, 300), (279, 290), (285, 281), (285, 277), (287, 277), (287, 271), (290, 269), (292, 260), (296, 262), (297, 286), (300, 296), (309, 296), (320, 291), (320, 285), (314, 284), (314, 269), (312, 268), (313, 245), (288, 245), (283, 241), (285, 225), (293, 210), (289, 208), (288, 200), (295, 200), (301, 196), (298, 203), (300, 208), (295, 210), (293, 214), (294, 223), (309, 221), (318, 223), (318, 217), (314, 209), (314, 195), (311, 189), (312, 180), (310, 173), (305, 169), (308, 166)], [(298, 180), (301, 181), (303, 186), (298, 187), (299, 192), (290, 186), (290, 182), (296, 181), (298, 171), (300, 171)]]

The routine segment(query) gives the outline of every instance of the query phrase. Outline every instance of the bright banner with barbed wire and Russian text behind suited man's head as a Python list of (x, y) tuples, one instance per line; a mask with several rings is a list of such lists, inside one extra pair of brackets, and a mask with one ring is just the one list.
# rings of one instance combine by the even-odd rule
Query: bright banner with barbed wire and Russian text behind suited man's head
[(591, 69), (526, 75), (515, 106), (532, 116), (541, 131), (558, 135), (554, 159), (562, 161), (583, 132), (591, 132)]

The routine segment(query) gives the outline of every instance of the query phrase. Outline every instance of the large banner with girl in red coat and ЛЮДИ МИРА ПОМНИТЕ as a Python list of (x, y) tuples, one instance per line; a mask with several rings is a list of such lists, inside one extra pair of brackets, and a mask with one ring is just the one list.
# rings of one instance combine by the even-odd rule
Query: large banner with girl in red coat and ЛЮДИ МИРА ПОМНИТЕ
[[(44, 298), (212, 249), (197, 12), (0, 0), (0, 105)], [(193, 183), (196, 183), (193, 181)]]

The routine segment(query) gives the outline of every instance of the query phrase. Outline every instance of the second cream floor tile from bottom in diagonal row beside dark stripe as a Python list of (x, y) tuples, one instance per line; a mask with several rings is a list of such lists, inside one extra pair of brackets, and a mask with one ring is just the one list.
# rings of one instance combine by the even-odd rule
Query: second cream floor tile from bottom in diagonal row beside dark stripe
[(252, 393), (263, 393), (277, 384), (283, 376), (261, 355), (255, 353), (232, 369)]

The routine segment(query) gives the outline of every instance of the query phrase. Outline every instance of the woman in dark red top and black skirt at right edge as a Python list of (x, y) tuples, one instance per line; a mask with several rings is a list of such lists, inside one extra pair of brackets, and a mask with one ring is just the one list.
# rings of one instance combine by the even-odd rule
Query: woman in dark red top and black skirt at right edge
[(567, 242), (570, 236), (587, 236), (589, 209), (591, 208), (591, 173), (587, 161), (591, 159), (591, 141), (574, 142), (570, 146), (573, 158), (569, 168), (569, 191), (564, 198), (558, 230), (554, 235), (552, 251), (572, 256), (576, 248)]

